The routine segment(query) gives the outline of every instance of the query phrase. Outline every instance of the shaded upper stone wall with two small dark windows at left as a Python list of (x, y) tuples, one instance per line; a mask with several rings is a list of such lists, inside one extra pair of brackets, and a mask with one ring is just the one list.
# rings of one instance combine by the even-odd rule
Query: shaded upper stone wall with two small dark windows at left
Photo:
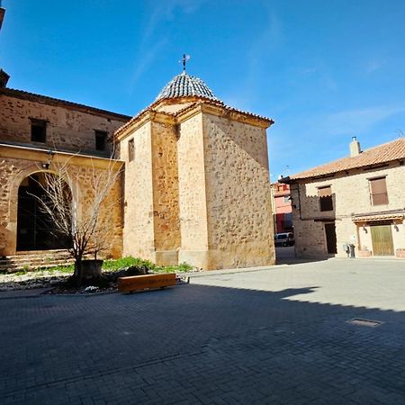
[[(107, 131), (111, 136), (127, 120), (118, 118), (118, 114), (83, 110), (0, 94), (0, 139), (39, 148), (100, 154), (95, 150), (94, 130)], [(31, 119), (47, 121), (45, 144), (31, 141)], [(107, 156), (109, 148), (105, 151)]]

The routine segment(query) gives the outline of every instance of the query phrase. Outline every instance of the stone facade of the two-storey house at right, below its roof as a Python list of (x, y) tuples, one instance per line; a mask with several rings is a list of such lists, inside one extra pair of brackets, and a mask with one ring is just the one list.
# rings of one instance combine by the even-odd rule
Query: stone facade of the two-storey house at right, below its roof
[[(372, 205), (368, 179), (386, 176), (389, 203)], [(333, 198), (333, 211), (320, 211), (318, 188), (330, 185)], [(298, 195), (300, 190), (300, 196)], [(366, 247), (373, 251), (370, 226), (366, 231), (363, 224), (357, 226), (354, 215), (367, 215), (384, 211), (401, 211), (405, 201), (405, 166), (396, 162), (390, 166), (363, 170), (356, 169), (348, 175), (336, 175), (330, 178), (310, 181), (300, 180), (291, 186), (293, 204), (300, 209), (293, 209), (295, 250), (298, 257), (327, 257), (324, 224), (335, 221), (337, 231), (338, 257), (347, 257), (343, 245), (353, 243), (356, 252)], [(392, 224), (394, 249), (405, 247), (403, 222)]]

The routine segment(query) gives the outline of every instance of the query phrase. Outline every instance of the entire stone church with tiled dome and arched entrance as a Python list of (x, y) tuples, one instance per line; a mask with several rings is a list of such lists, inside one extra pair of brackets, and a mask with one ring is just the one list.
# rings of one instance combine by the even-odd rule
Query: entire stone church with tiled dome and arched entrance
[(272, 120), (227, 106), (185, 69), (133, 118), (14, 90), (7, 80), (1, 70), (0, 257), (62, 249), (30, 196), (35, 183), (68, 162), (80, 206), (91, 170), (111, 164), (115, 145), (122, 175), (107, 197), (114, 204), (105, 257), (204, 269), (274, 264)]

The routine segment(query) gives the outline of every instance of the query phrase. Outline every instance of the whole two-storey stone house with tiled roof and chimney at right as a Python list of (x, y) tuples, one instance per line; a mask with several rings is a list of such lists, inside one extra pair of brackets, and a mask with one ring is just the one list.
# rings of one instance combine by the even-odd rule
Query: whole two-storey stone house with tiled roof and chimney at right
[(285, 177), (297, 257), (404, 257), (405, 139)]

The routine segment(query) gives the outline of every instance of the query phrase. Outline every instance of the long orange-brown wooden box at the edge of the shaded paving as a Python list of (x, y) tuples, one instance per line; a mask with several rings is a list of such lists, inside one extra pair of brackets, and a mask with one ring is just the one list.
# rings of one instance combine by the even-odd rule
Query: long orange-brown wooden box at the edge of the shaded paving
[(118, 279), (118, 291), (132, 293), (134, 291), (153, 290), (175, 285), (175, 273), (163, 275), (133, 275)]

